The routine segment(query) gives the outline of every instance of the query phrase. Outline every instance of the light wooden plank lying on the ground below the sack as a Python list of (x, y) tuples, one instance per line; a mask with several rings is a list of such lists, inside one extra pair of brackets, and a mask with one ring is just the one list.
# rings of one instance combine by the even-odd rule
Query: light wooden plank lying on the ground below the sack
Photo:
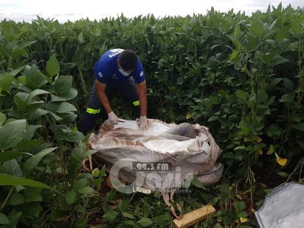
[(215, 208), (211, 205), (201, 207), (195, 211), (189, 212), (181, 216), (180, 219), (173, 220), (174, 228), (186, 228), (215, 213)]

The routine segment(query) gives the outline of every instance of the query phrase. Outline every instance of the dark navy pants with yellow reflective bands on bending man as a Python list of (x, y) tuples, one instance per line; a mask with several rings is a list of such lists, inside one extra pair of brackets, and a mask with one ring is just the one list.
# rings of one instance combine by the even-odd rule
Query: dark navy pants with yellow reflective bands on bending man
[[(130, 77), (127, 81), (122, 83), (112, 83), (108, 82), (105, 88), (105, 94), (108, 97), (110, 92), (116, 90), (121, 92), (122, 96), (126, 98), (126, 100), (132, 102), (134, 107), (134, 115), (136, 118), (139, 118), (139, 99), (138, 93), (135, 88), (134, 79)], [(95, 80), (92, 85), (92, 89), (90, 92), (88, 108), (84, 113), (78, 130), (84, 134), (87, 134), (95, 125), (96, 120), (99, 117), (100, 108), (102, 107), (98, 95), (95, 92)]]

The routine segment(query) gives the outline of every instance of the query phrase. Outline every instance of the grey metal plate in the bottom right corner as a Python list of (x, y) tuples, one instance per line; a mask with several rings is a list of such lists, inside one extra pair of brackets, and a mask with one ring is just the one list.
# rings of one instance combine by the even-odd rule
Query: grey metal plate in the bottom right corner
[(304, 185), (289, 182), (274, 188), (255, 217), (260, 228), (304, 227)]

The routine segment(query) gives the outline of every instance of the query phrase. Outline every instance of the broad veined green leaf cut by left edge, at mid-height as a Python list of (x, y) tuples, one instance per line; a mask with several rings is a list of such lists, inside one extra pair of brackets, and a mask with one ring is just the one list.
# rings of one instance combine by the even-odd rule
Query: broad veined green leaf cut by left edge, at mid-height
[(17, 145), (25, 135), (26, 120), (16, 120), (0, 127), (0, 150)]

